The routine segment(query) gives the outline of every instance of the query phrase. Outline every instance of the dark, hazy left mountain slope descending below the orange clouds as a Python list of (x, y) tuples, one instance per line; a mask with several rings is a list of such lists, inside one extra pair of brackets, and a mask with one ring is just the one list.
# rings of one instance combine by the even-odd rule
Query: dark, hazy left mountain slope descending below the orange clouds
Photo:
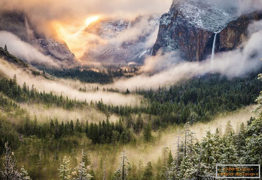
[(38, 48), (45, 55), (60, 61), (66, 61), (68, 64), (77, 62), (75, 55), (71, 53), (64, 41), (61, 39), (48, 39), (37, 33), (30, 25), (30, 21), (24, 12), (1, 12), (0, 30), (17, 35), (21, 40)]

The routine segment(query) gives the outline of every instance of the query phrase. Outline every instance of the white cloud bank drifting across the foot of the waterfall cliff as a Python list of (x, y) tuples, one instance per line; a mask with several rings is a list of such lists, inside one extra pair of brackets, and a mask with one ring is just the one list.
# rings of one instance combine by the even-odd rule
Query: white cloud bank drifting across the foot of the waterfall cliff
[(190, 79), (206, 73), (218, 72), (231, 77), (245, 76), (262, 67), (262, 30), (258, 30), (261, 22), (250, 25), (254, 33), (243, 43), (243, 50), (216, 53), (214, 60), (206, 59), (202, 62), (183, 61), (175, 51), (164, 55), (157, 54), (148, 57), (141, 67), (140, 75), (116, 80), (113, 86), (125, 90), (135, 88), (149, 89), (165, 85), (172, 85), (182, 79)]

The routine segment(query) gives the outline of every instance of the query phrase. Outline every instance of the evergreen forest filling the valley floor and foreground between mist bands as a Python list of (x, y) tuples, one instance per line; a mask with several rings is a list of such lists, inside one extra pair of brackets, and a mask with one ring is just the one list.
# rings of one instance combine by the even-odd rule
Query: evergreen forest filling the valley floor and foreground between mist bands
[[(261, 78), (262, 75), (259, 77)], [(4, 179), (215, 179), (215, 164), (261, 164), (261, 80), (255, 75), (228, 79), (208, 75), (169, 88), (134, 90), (143, 95), (139, 106), (86, 102), (41, 92), (16, 75), (0, 80), (0, 152)], [(127, 93), (126, 92), (126, 93)], [(215, 92), (215, 93), (214, 93)], [(124, 94), (126, 94), (124, 93)], [(255, 100), (256, 99), (256, 100)], [(202, 139), (191, 124), (212, 121), (218, 114), (257, 103), (256, 117), (234, 130), (207, 129)], [(39, 122), (20, 104), (44, 108), (97, 109), (107, 119)], [(112, 115), (119, 117), (110, 122)], [(165, 131), (178, 131), (176, 148), (161, 147), (154, 160), (129, 160), (132, 149), (149, 152)], [(8, 177), (8, 178), (7, 178)]]

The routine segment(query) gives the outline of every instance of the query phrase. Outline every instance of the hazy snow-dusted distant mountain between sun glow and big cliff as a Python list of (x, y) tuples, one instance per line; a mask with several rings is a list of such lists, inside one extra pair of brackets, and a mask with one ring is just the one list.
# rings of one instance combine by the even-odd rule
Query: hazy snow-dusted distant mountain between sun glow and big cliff
[[(135, 20), (102, 19), (90, 24), (85, 31), (99, 36), (103, 44), (89, 49), (82, 59), (94, 59), (103, 63), (142, 64), (151, 55), (159, 16), (139, 16)], [(153, 39), (153, 43), (149, 41)]]

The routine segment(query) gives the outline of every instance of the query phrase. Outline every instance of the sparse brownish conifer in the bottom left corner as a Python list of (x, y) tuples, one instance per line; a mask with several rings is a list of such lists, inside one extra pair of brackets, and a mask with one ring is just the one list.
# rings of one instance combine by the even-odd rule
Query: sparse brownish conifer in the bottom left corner
[(16, 157), (14, 156), (10, 146), (8, 146), (8, 141), (5, 143), (5, 151), (2, 161), (4, 162), (1, 170), (2, 178), (5, 180), (13, 179), (16, 171)]

